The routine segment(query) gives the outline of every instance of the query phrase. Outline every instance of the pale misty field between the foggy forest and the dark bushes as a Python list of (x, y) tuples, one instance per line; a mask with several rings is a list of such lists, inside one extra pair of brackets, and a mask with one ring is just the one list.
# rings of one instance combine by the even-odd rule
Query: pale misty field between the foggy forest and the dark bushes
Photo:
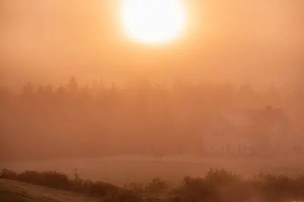
[(49, 161), (0, 164), (1, 168), (16, 171), (56, 170), (73, 175), (75, 168), (84, 179), (101, 180), (116, 185), (130, 182), (149, 182), (161, 178), (171, 184), (184, 176), (204, 176), (210, 168), (224, 168), (244, 177), (259, 172), (295, 175), (304, 172), (304, 162), (294, 156), (284, 157), (199, 157), (178, 156), (154, 159), (146, 156), (119, 156), (96, 159), (61, 159)]

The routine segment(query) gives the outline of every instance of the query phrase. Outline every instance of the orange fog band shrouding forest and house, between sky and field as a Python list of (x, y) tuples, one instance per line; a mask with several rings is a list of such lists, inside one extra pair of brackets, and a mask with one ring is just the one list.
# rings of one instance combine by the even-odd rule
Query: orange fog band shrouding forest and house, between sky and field
[[(303, 90), (146, 78), (2, 87), (2, 161), (302, 154)], [(262, 156), (261, 156), (262, 157)]]

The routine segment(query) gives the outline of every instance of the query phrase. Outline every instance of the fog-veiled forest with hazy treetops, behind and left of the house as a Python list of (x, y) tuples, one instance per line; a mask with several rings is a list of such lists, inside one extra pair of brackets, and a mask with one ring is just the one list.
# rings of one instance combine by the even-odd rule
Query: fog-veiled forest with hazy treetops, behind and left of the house
[[(145, 78), (122, 85), (76, 78), (61, 86), (0, 88), (0, 161), (106, 155), (202, 153), (204, 123), (233, 109), (284, 109), (300, 135), (304, 89)], [(39, 151), (39, 152), (37, 152)]]

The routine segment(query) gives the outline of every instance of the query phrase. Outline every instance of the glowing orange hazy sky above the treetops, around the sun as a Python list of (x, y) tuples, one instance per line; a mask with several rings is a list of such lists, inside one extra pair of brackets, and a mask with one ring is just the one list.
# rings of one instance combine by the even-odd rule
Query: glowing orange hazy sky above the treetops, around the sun
[(185, 32), (155, 47), (126, 37), (120, 2), (0, 0), (0, 76), (8, 83), (72, 74), (289, 82), (304, 73), (302, 0), (184, 0)]

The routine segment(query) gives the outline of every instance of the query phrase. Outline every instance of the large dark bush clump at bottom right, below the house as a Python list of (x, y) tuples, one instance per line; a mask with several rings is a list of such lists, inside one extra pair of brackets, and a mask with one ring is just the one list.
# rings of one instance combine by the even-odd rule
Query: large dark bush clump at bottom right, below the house
[(300, 200), (304, 196), (303, 179), (259, 174), (243, 180), (240, 175), (211, 169), (204, 178), (184, 177), (173, 194), (184, 201)]

